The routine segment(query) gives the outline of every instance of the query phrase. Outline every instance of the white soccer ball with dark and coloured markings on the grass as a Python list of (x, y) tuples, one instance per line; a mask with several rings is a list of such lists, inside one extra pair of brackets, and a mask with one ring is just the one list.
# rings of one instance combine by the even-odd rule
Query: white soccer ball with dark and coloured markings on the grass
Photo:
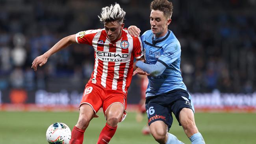
[(69, 144), (71, 131), (66, 124), (56, 122), (46, 131), (46, 140), (49, 144)]

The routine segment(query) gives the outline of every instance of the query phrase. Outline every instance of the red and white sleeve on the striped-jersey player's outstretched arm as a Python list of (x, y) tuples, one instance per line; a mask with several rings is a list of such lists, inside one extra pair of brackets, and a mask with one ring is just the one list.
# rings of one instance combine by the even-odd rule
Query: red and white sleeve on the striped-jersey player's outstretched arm
[(87, 30), (87, 31), (80, 31), (76, 33), (76, 42), (78, 44), (89, 44), (92, 45), (93, 38), (95, 37), (98, 30)]

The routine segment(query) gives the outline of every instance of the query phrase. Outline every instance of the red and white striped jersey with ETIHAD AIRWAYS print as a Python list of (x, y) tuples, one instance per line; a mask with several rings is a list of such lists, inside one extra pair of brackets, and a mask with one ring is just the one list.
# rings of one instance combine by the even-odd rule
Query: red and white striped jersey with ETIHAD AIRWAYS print
[(141, 39), (122, 29), (121, 39), (110, 42), (105, 29), (76, 33), (76, 42), (93, 46), (94, 70), (88, 83), (101, 84), (106, 89), (127, 94), (133, 73), (134, 57), (144, 55)]

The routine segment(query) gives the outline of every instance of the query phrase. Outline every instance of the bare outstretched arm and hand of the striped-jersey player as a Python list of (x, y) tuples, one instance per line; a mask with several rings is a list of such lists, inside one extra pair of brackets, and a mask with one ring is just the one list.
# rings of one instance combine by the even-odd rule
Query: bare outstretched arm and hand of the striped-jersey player
[(76, 43), (76, 35), (69, 35), (67, 37), (64, 37), (59, 42), (57, 42), (50, 50), (45, 52), (45, 54), (40, 55), (36, 57), (32, 63), (31, 68), (33, 68), (35, 71), (37, 71), (37, 66), (43, 66), (47, 62), (48, 58), (58, 52), (59, 50), (62, 50), (63, 48), (66, 48), (72, 43)]

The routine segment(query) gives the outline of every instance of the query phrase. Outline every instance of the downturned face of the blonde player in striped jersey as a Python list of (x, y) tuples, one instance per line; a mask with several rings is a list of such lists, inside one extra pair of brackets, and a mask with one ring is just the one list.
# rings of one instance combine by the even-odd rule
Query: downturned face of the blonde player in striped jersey
[(106, 22), (104, 24), (105, 31), (107, 32), (108, 39), (110, 41), (115, 41), (119, 39), (122, 35), (121, 30), (124, 28), (124, 24), (120, 24), (118, 21)]

